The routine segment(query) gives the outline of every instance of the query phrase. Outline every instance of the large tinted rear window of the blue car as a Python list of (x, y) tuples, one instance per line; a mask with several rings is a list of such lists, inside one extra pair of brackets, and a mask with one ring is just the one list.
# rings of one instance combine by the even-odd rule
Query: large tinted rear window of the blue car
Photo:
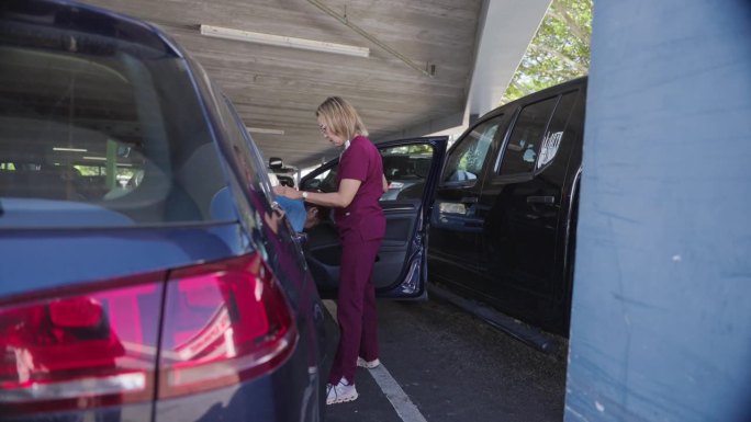
[(34, 30), (0, 32), (0, 209), (14, 216), (0, 227), (226, 218), (212, 215), (226, 183), (184, 59)]

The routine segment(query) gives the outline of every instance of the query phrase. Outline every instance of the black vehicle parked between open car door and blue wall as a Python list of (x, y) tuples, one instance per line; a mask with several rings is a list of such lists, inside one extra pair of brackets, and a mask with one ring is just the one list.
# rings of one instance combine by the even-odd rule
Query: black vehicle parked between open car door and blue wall
[(451, 147), (429, 229), (430, 277), (567, 335), (586, 78), (482, 116)]

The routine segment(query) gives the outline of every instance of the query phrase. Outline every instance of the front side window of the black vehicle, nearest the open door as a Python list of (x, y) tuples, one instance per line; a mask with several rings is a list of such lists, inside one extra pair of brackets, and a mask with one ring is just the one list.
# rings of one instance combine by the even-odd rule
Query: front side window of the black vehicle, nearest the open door
[(449, 152), (444, 182), (460, 182), (480, 176), (491, 142), (498, 130), (502, 116), (496, 116), (475, 126)]

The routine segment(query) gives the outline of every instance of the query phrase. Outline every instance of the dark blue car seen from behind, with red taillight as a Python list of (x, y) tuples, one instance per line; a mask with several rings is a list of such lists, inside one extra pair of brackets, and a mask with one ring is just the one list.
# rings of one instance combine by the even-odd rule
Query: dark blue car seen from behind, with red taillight
[(0, 420), (321, 421), (332, 327), (195, 61), (101, 9), (0, 4)]

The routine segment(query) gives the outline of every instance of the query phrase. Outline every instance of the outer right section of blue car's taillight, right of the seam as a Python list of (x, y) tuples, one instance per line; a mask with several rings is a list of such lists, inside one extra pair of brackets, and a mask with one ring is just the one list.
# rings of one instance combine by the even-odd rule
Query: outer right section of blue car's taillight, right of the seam
[(158, 397), (267, 373), (296, 339), (290, 307), (259, 255), (176, 271), (167, 284)]

